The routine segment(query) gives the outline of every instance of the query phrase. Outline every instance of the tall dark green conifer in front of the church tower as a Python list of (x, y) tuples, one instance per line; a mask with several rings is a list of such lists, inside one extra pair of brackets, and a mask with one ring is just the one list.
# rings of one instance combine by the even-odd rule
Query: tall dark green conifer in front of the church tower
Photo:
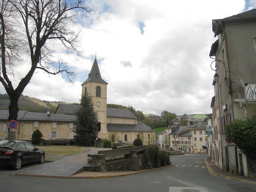
[(97, 138), (97, 112), (93, 108), (91, 96), (83, 94), (80, 99), (79, 110), (76, 111), (74, 123), (74, 142), (80, 146), (93, 146)]

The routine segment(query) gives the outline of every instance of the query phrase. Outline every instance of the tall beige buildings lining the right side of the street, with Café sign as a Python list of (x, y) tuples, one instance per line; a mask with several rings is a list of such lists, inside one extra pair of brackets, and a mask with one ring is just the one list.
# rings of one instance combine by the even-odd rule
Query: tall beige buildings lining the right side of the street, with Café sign
[(212, 31), (218, 38), (209, 53), (215, 70), (212, 160), (226, 172), (256, 177), (255, 161), (249, 161), (225, 136), (228, 122), (256, 114), (256, 98), (250, 95), (256, 87), (256, 9), (212, 20)]

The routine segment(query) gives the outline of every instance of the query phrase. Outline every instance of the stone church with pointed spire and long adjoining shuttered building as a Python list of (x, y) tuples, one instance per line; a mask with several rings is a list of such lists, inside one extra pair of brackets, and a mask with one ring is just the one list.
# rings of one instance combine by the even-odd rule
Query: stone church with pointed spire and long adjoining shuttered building
[[(94, 109), (98, 113), (98, 122), (101, 124), (99, 138), (108, 138), (108, 135), (115, 132), (120, 140), (132, 142), (141, 138), (144, 145), (154, 140), (155, 131), (142, 122), (137, 121), (128, 109), (107, 108), (107, 85), (101, 77), (99, 66), (95, 58), (88, 78), (81, 84), (82, 94), (89, 94), (94, 103)], [(35, 129), (44, 135), (47, 143), (64, 143), (73, 140), (73, 122), (76, 119), (75, 111), (79, 105), (59, 104), (55, 114), (34, 113), (19, 111), (18, 127), (15, 139), (31, 140)], [(0, 111), (0, 139), (6, 139), (8, 135), (8, 111)]]

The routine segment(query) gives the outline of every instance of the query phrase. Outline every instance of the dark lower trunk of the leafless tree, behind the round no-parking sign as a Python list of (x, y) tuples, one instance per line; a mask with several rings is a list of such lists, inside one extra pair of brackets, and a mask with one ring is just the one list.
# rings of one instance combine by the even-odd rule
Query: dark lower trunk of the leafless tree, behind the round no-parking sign
[[(11, 95), (9, 95), (10, 98), (10, 105), (9, 105), (9, 118), (8, 118), (8, 122), (11, 120), (17, 120), (18, 117), (18, 112), (19, 112), (19, 108), (18, 108), (18, 100), (20, 98), (20, 95), (17, 93), (11, 93)], [(8, 131), (8, 140), (15, 140), (15, 133), (16, 130), (11, 130), (9, 128)]]

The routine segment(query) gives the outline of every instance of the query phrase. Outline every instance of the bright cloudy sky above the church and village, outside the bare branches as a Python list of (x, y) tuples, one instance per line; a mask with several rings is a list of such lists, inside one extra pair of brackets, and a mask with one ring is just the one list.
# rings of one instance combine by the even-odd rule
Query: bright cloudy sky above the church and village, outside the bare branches
[[(82, 29), (82, 55), (64, 55), (78, 74), (73, 84), (38, 71), (23, 95), (79, 102), (96, 55), (108, 82), (107, 103), (180, 115), (212, 112), (209, 51), (217, 40), (212, 20), (254, 9), (256, 0), (87, 0), (87, 5), (97, 10), (76, 25)], [(0, 93), (6, 93), (2, 84)]]

